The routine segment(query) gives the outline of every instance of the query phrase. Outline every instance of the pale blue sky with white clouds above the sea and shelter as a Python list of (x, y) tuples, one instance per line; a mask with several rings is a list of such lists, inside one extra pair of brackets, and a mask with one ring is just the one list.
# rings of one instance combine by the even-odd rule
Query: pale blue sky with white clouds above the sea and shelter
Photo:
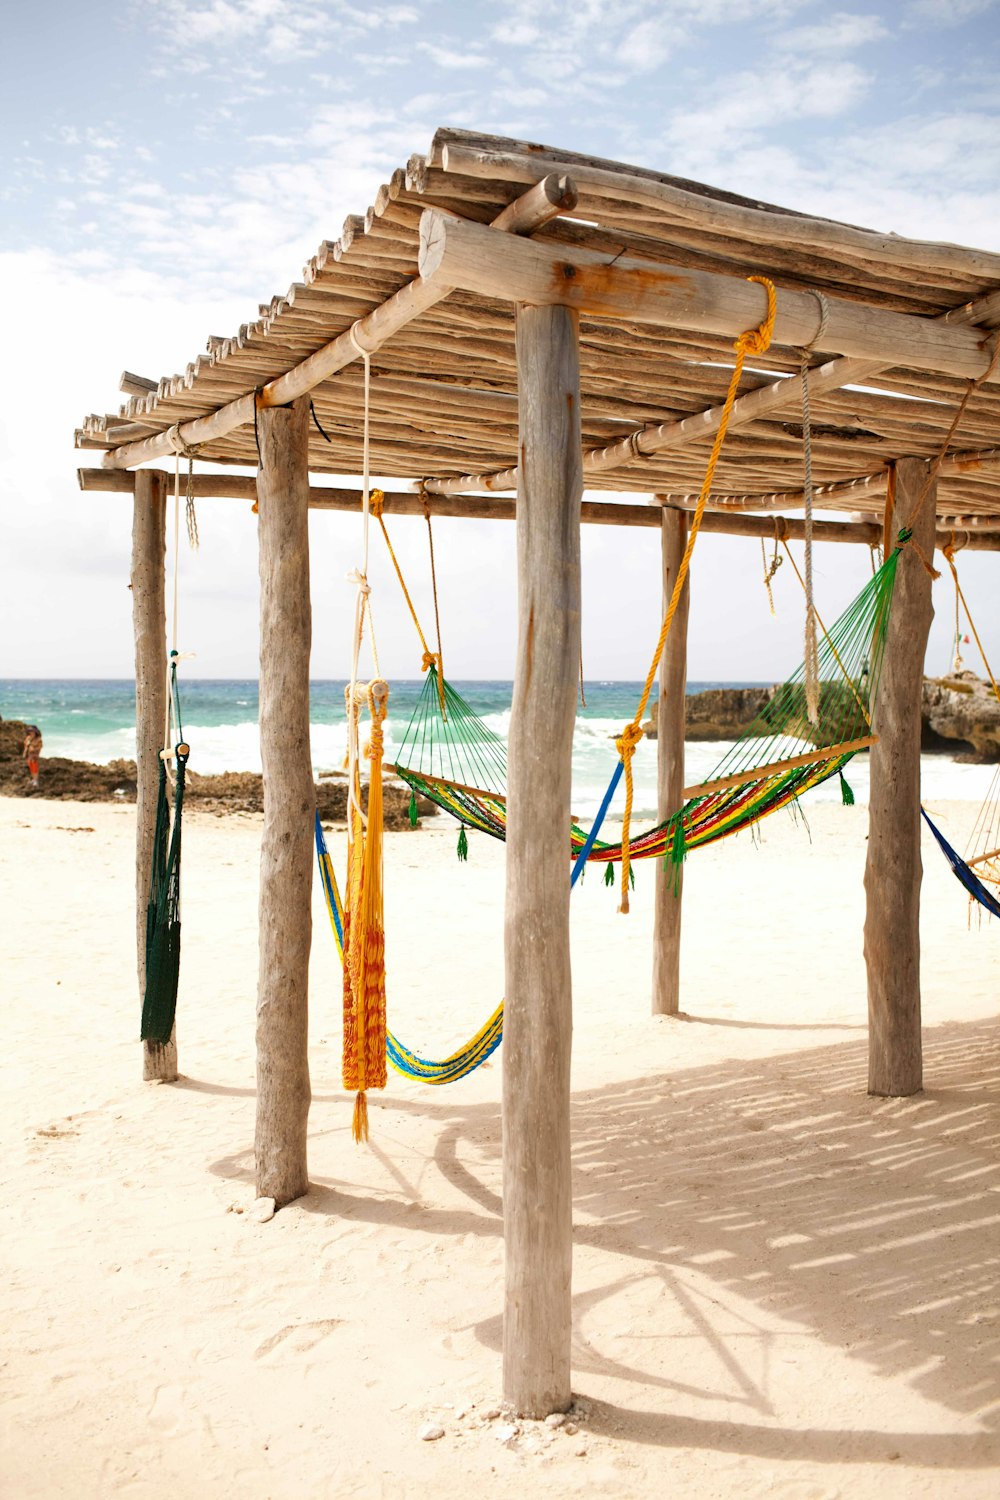
[[(117, 406), (123, 368), (183, 369), (208, 333), (253, 316), (394, 166), (426, 150), (435, 126), (543, 140), (1000, 249), (999, 63), (996, 0), (10, 8), (0, 64), (0, 675), (129, 674), (127, 504), (76, 492), (73, 426)], [(226, 502), (201, 510), (202, 550), (183, 560), (192, 670), (252, 674), (252, 525)], [(399, 532), (423, 566), (417, 528), (400, 522)], [(652, 537), (585, 532), (585, 602), (604, 596), (609, 578), (633, 598), (628, 628), (613, 610), (588, 609), (592, 675), (645, 672), (658, 612)], [(340, 675), (349, 591), (339, 580), (357, 536), (327, 516), (313, 518), (313, 670)], [(513, 537), (456, 524), (441, 528), (441, 546), (453, 670), (507, 675)], [(828, 614), (867, 568), (847, 550), (820, 554)], [(966, 562), (994, 650), (996, 567)], [(759, 574), (753, 548), (706, 538), (693, 676), (780, 675), (793, 663), (799, 602), (787, 586), (775, 624)], [(934, 668), (946, 664), (948, 612), (942, 596)], [(381, 615), (388, 668), (406, 670), (396, 598)]]

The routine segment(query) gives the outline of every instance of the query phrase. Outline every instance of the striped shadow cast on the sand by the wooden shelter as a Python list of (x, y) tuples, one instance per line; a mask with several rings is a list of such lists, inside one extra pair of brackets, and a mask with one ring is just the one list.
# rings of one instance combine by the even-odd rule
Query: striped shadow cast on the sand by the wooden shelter
[[(616, 1437), (817, 1461), (997, 1462), (1000, 1038), (993, 1023), (951, 1024), (928, 1032), (927, 1052), (928, 1089), (913, 1100), (864, 1094), (864, 1036), (574, 1092), (576, 1244), (636, 1266), (634, 1276), (577, 1292), (574, 1370), (688, 1389), (598, 1353), (583, 1323), (595, 1300), (640, 1276), (661, 1276), (682, 1296), (691, 1268), (762, 1316), (799, 1323), (834, 1348), (849, 1342), (852, 1359), (975, 1416), (982, 1431), (790, 1431), (604, 1406)], [(435, 1166), (468, 1210), (412, 1202), (397, 1168), (400, 1198), (316, 1184), (301, 1206), (424, 1234), (499, 1236), (498, 1108), (450, 1106), (441, 1092), (387, 1096), (384, 1118), (396, 1116), (397, 1130), (411, 1113), (438, 1120)], [(244, 1162), (214, 1170), (232, 1176)], [(736, 1400), (766, 1419), (726, 1341), (705, 1318), (699, 1329), (732, 1370)], [(499, 1347), (499, 1318), (475, 1332)], [(676, 1368), (682, 1376), (679, 1359)]]

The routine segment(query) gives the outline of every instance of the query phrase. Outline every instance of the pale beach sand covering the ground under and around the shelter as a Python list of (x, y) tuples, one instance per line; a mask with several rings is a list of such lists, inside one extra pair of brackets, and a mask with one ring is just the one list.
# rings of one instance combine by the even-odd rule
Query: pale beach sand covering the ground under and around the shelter
[[(961, 838), (973, 808), (937, 808)], [(184, 831), (183, 1080), (138, 1082), (132, 810), (0, 801), (3, 1454), (12, 1500), (1000, 1492), (1000, 928), (925, 846), (927, 1092), (865, 1095), (864, 808), (687, 867), (688, 1017), (573, 898), (576, 1434), (499, 1392), (502, 1050), (339, 1088), (319, 890), (307, 1198), (253, 1202), (259, 820)], [(394, 1030), (439, 1056), (502, 975), (502, 849), (387, 840)], [(333, 840), (334, 852), (342, 849)], [(465, 1413), (465, 1414), (462, 1414)], [(426, 1420), (445, 1436), (424, 1443)]]

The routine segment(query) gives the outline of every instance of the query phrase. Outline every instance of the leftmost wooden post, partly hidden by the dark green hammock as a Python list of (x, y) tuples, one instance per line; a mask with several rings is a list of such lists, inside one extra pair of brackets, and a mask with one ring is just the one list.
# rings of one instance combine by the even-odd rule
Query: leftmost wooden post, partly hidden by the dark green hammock
[[(132, 626), (135, 630), (135, 945), (139, 1008), (145, 994), (145, 908), (166, 714), (166, 474), (139, 470), (132, 512)], [(142, 1042), (142, 1077), (177, 1077), (177, 1028), (168, 1042)]]

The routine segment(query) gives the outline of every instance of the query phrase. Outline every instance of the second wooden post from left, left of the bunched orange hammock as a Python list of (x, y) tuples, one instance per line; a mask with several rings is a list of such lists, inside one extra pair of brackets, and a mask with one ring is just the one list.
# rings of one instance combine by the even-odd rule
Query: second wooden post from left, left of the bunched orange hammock
[(261, 956), (256, 1192), (309, 1190), (309, 948), (316, 790), (309, 748), (309, 399), (258, 416), (261, 549)]

